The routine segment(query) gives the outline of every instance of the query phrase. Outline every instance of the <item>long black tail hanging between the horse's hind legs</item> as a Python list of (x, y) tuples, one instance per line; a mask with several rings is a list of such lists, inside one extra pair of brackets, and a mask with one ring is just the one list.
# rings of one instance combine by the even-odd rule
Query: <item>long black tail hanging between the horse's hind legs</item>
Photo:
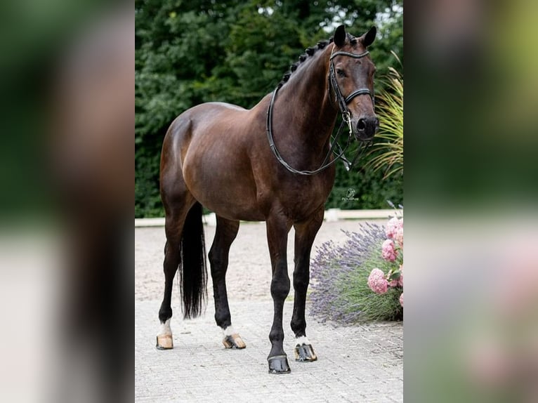
[(198, 317), (205, 309), (207, 299), (207, 267), (202, 204), (191, 207), (183, 225), (181, 236), (181, 262), (179, 263), (183, 318)]

